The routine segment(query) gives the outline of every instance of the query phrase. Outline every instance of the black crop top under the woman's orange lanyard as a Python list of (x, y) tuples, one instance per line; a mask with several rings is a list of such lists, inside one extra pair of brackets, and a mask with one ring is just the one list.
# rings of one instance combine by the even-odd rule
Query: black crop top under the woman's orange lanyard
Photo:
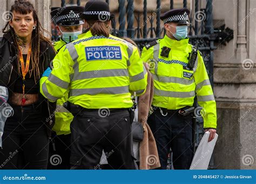
[[(23, 60), (24, 60), (24, 66), (26, 67), (26, 57), (27, 54), (22, 54)], [(18, 64), (18, 70), (20, 71), (20, 74), (18, 75), (17, 80), (15, 81), (15, 88), (14, 92), (16, 93), (23, 93), (22, 86), (23, 86), (23, 80), (22, 80), (22, 69), (21, 69), (21, 63)], [(31, 77), (30, 77), (30, 73)], [(38, 94), (39, 92), (39, 80), (37, 81), (37, 84), (35, 83), (35, 76), (32, 71), (32, 64), (31, 64), (31, 57), (30, 57), (30, 63), (29, 63), (29, 71), (26, 73), (25, 77), (25, 94)]]

